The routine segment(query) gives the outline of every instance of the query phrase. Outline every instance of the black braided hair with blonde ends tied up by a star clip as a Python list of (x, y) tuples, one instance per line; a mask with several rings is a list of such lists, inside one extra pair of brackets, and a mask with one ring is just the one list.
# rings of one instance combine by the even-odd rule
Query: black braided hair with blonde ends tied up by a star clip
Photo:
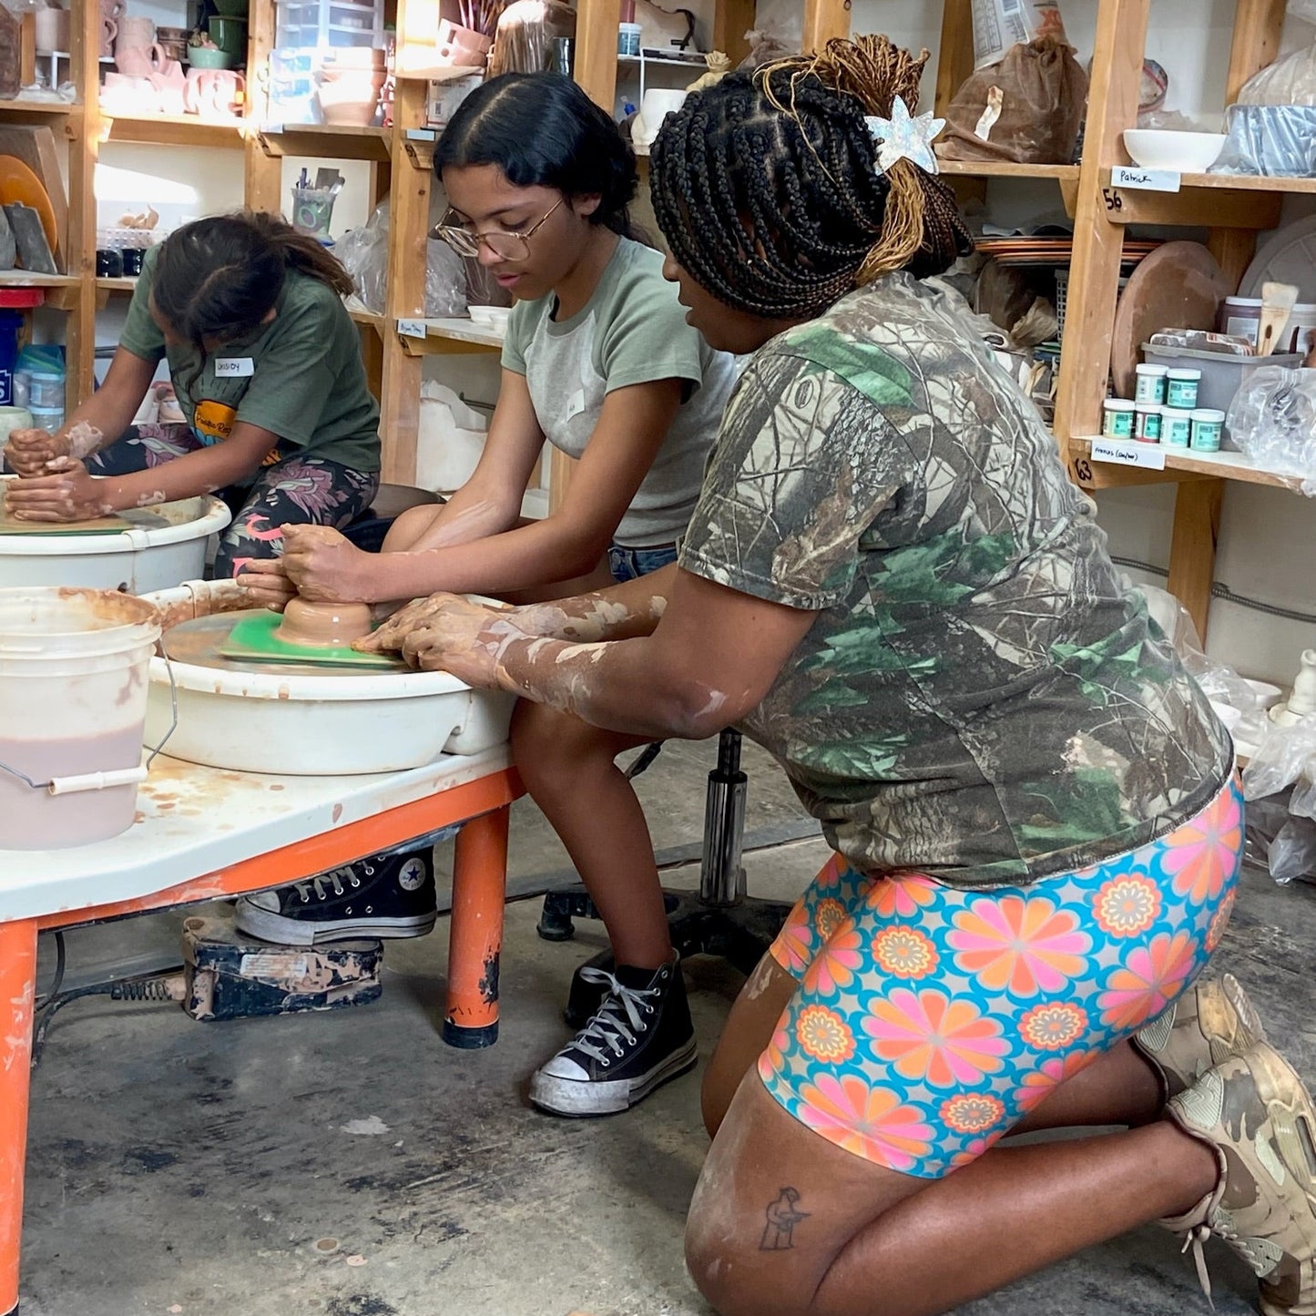
[(916, 104), (917, 59), (886, 37), (828, 42), (692, 93), (650, 159), (674, 258), (720, 301), (808, 318), (888, 270), (971, 250), (954, 193), (911, 161), (883, 172), (866, 116)]

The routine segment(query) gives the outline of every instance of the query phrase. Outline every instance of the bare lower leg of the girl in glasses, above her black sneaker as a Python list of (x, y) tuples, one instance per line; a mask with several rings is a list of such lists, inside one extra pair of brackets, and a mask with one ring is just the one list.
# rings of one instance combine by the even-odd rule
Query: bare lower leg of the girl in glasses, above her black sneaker
[(646, 744), (524, 700), (512, 717), (517, 771), (597, 905), (617, 963), (657, 969), (672, 949), (653, 841), (613, 762)]

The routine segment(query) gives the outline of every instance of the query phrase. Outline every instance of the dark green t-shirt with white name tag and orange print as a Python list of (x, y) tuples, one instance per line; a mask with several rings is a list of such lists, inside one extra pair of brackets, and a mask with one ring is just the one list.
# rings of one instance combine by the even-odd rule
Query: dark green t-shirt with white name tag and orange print
[(158, 251), (146, 253), (118, 342), (143, 361), (168, 359), (179, 405), (203, 443), (246, 421), (279, 436), (278, 459), (296, 453), (379, 470), (379, 404), (366, 383), (357, 326), (333, 288), (290, 270), (274, 320), (207, 354), (197, 375), (196, 351), (166, 345), (151, 318)]

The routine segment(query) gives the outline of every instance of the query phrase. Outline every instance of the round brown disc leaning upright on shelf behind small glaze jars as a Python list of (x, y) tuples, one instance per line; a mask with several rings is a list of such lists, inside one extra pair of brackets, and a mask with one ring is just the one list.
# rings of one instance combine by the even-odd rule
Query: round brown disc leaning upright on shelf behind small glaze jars
[(1111, 378), (1132, 397), (1142, 343), (1162, 329), (1215, 329), (1233, 287), (1200, 242), (1166, 242), (1129, 275), (1111, 330)]

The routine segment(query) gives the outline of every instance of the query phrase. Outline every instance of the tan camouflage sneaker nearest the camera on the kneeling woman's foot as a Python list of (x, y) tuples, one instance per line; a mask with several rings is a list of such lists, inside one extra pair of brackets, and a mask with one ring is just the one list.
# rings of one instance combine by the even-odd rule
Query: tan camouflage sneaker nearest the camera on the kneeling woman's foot
[(1194, 1249), (1224, 1240), (1261, 1280), (1266, 1316), (1316, 1316), (1316, 1108), (1292, 1066), (1259, 1042), (1207, 1070), (1166, 1115), (1215, 1149), (1220, 1182), (1186, 1215), (1162, 1220)]

